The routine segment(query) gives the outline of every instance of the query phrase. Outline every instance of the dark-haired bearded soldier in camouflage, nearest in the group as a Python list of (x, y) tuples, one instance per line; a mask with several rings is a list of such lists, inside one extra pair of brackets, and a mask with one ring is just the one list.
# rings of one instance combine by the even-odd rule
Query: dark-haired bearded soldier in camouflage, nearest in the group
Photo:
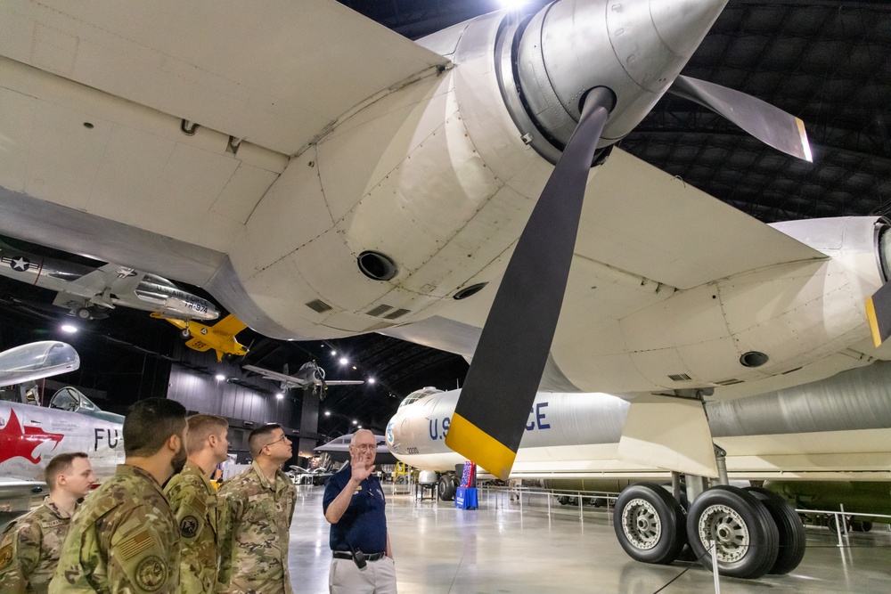
[(179, 531), (161, 484), (185, 464), (185, 409), (135, 403), (123, 434), (127, 458), (71, 519), (51, 594), (179, 591)]

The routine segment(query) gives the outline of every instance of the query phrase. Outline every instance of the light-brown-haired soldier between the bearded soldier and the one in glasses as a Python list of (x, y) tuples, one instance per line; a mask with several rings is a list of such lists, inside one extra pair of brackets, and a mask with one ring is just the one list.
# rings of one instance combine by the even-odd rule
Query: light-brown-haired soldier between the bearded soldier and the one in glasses
[(188, 426), (185, 449), (189, 461), (183, 472), (168, 481), (164, 494), (170, 501), (183, 543), (180, 585), (188, 594), (209, 594), (217, 588), (217, 539), (221, 529), (217, 489), (209, 477), (217, 464), (227, 458), (229, 423), (214, 415), (193, 415)]

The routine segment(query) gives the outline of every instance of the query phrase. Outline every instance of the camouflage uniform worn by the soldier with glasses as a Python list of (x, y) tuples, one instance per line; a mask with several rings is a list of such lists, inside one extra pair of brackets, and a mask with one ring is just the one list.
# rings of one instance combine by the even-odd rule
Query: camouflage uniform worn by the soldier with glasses
[(288, 541), (297, 503), (294, 484), (281, 470), (270, 483), (255, 461), (223, 484), (220, 498), (228, 528), (220, 547), (220, 590), (292, 594)]

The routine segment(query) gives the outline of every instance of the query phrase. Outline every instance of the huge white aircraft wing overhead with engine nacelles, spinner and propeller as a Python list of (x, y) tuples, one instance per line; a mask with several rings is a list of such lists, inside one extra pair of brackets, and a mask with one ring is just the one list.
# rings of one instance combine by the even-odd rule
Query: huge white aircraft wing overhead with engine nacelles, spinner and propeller
[(865, 300), (891, 276), (882, 217), (765, 225), (615, 148), (672, 93), (810, 159), (796, 118), (679, 75), (724, 4), (563, 0), (413, 43), (332, 0), (12, 0), (0, 232), (198, 285), (270, 338), (462, 354), (447, 444), (498, 476), (538, 389), (623, 395), (640, 455), (715, 476), (701, 399), (887, 359)]

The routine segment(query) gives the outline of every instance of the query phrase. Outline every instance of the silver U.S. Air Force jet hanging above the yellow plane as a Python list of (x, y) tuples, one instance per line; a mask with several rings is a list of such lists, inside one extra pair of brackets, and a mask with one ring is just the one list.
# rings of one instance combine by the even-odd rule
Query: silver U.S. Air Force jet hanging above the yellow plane
[(83, 320), (106, 317), (115, 307), (158, 312), (182, 320), (216, 320), (217, 308), (155, 274), (128, 266), (98, 268), (37, 256), (0, 241), (0, 274), (56, 291), (53, 305)]

